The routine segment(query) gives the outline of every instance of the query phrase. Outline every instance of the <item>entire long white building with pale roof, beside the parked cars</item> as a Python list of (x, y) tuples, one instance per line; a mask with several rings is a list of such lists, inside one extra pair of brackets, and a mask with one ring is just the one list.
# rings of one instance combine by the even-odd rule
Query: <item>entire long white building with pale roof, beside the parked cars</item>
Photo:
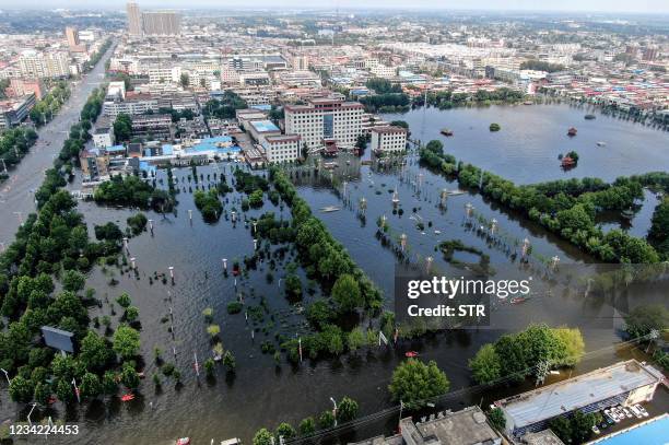
[(516, 438), (539, 432), (550, 420), (600, 411), (617, 405), (650, 401), (664, 375), (655, 367), (629, 360), (495, 402), (506, 417), (507, 433)]

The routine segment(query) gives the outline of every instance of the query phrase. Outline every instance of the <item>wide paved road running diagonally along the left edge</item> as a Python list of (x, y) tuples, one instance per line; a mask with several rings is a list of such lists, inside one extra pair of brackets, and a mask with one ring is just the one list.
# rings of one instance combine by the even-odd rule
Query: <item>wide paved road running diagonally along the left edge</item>
[(35, 145), (11, 171), (8, 180), (0, 184), (0, 251), (9, 245), (19, 229), (22, 219), (35, 211), (34, 191), (42, 185), (44, 172), (51, 167), (54, 159), (60, 152), (68, 138), (70, 127), (79, 120), (79, 114), (91, 94), (105, 75), (105, 62), (116, 45), (113, 44), (97, 62), (93, 71), (72, 87), (72, 95), (54, 120), (42, 127)]

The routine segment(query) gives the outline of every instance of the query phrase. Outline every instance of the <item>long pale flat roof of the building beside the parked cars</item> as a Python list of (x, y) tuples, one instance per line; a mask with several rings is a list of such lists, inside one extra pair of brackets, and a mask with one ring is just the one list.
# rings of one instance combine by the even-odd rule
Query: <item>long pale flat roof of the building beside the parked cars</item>
[(662, 374), (653, 366), (629, 360), (508, 397), (495, 405), (505, 411), (514, 428), (518, 429), (661, 379)]

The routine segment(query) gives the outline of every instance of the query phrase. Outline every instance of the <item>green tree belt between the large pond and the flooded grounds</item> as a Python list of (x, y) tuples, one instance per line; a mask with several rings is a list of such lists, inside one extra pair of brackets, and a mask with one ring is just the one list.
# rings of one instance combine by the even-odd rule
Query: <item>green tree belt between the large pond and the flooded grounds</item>
[[(647, 241), (614, 229), (605, 233), (596, 224), (597, 213), (625, 210), (643, 197), (643, 184), (620, 177), (612, 184), (599, 179), (568, 179), (517, 186), (474, 165), (444, 154), (441, 142), (420, 150), (431, 168), (456, 177), (461, 186), (478, 189), (484, 197), (524, 213), (549, 231), (606, 262), (652, 264), (659, 260)], [(662, 175), (658, 173), (656, 175)]]

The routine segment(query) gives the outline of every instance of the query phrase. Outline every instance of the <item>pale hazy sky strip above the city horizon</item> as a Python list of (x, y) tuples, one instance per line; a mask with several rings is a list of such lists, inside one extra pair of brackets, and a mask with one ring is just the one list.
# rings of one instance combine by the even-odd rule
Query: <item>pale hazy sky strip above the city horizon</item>
[[(139, 0), (142, 8), (406, 8), (669, 13), (669, 0)], [(124, 0), (0, 0), (0, 8), (122, 9)]]

